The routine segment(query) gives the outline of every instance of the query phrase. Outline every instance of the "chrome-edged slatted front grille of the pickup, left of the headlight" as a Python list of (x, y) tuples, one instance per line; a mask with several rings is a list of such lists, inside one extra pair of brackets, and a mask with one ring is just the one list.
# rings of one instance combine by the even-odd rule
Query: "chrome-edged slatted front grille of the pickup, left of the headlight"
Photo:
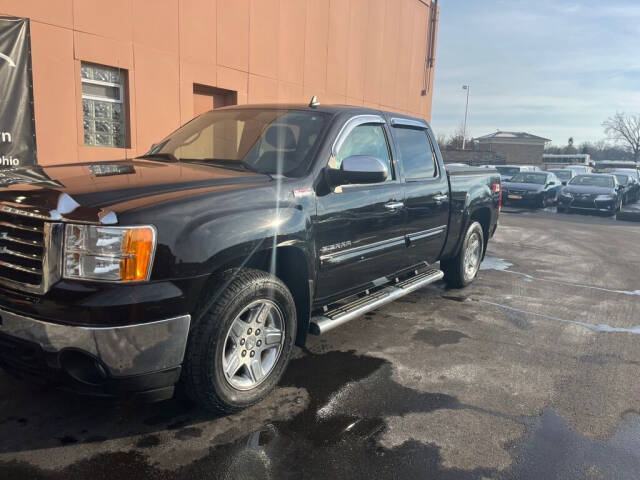
[(0, 284), (45, 293), (60, 278), (62, 224), (12, 204), (0, 205)]

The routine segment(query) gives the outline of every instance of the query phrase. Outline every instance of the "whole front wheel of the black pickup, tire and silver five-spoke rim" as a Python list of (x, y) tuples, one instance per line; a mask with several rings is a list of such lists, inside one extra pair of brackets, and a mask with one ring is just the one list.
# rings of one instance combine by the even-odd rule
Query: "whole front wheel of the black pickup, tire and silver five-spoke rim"
[(296, 337), (287, 287), (267, 272), (229, 270), (228, 285), (190, 332), (182, 383), (199, 406), (234, 413), (266, 397), (286, 369)]

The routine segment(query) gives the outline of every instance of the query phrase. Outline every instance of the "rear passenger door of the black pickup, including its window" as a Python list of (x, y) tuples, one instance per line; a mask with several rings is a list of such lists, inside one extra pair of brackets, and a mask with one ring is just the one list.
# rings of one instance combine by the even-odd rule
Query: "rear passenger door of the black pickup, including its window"
[(406, 235), (411, 265), (439, 258), (449, 222), (449, 182), (438, 162), (426, 123), (391, 119), (391, 131), (403, 176)]

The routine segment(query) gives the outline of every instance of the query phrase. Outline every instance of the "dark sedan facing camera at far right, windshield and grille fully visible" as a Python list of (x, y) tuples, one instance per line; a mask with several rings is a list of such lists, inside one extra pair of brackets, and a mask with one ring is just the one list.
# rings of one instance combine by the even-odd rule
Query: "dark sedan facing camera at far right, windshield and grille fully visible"
[(559, 212), (593, 210), (615, 213), (622, 206), (621, 186), (615, 175), (592, 173), (571, 179), (560, 192)]

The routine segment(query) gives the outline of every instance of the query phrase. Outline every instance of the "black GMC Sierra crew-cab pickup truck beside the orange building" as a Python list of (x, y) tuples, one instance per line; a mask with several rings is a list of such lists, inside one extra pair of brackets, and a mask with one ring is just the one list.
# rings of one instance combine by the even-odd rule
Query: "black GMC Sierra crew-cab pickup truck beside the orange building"
[(222, 108), (141, 157), (0, 182), (2, 366), (226, 412), (308, 333), (470, 283), (501, 200), (497, 172), (445, 170), (424, 120), (316, 104)]

